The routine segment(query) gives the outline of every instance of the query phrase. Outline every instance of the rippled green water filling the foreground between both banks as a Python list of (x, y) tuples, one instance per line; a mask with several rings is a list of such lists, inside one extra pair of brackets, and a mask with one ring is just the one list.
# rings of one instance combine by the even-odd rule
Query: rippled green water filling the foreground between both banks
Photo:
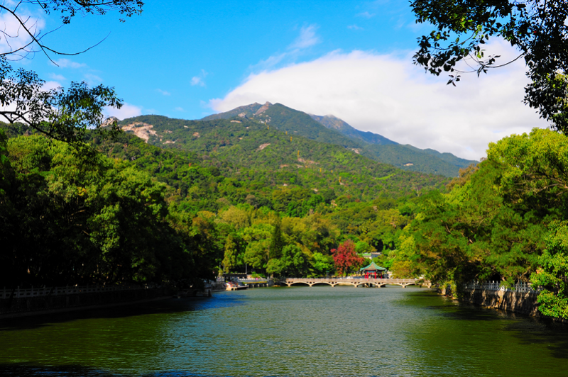
[(0, 321), (0, 376), (568, 376), (568, 327), (412, 288), (255, 288)]

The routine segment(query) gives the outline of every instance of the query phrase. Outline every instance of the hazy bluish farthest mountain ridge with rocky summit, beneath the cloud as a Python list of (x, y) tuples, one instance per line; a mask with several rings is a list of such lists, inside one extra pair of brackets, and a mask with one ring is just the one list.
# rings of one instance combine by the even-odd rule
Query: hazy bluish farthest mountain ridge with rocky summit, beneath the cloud
[[(309, 116), (307, 113), (288, 108), (280, 103), (267, 102), (263, 105), (253, 103), (225, 113), (207, 116), (202, 120), (214, 119), (256, 120), (278, 130), (288, 131), (291, 135), (301, 135), (308, 139), (351, 148), (378, 162), (391, 164), (408, 171), (454, 177), (458, 175), (459, 169), (477, 163), (460, 159), (450, 153), (400, 145), (381, 135), (356, 130), (334, 116)], [(327, 128), (327, 132), (322, 129), (322, 126)]]

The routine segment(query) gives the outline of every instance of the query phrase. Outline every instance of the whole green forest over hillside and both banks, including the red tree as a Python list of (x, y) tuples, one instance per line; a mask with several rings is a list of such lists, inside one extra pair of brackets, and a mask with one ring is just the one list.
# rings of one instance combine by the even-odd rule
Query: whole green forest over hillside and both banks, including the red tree
[(381, 252), (393, 276), (458, 293), (471, 280), (533, 281), (541, 310), (567, 315), (564, 135), (506, 137), (449, 181), (247, 122), (185, 123), (190, 137), (164, 133), (175, 143), (87, 133), (95, 157), (4, 125), (4, 285), (349, 274), (368, 263), (359, 254)]

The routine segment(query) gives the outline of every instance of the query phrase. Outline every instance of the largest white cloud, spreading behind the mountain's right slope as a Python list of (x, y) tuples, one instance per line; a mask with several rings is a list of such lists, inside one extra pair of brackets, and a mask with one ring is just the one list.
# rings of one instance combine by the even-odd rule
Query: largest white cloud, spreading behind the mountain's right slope
[[(515, 56), (504, 43), (493, 43), (493, 48), (504, 59)], [(402, 144), (468, 159), (484, 157), (488, 142), (547, 127), (522, 103), (527, 83), (522, 61), (479, 78), (464, 74), (453, 87), (446, 85), (447, 77), (432, 77), (413, 65), (411, 55), (332, 52), (251, 74), (224, 99), (209, 104), (215, 111), (228, 111), (253, 102), (279, 102), (307, 113), (333, 114)]]

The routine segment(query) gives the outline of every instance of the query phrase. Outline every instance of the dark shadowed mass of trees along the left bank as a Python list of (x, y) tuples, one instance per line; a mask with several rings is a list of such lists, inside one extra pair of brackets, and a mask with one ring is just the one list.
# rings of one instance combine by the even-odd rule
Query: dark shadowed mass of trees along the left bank
[(7, 152), (0, 285), (212, 278), (219, 255), (207, 220), (172, 213), (165, 185), (148, 174), (39, 136), (11, 139)]

